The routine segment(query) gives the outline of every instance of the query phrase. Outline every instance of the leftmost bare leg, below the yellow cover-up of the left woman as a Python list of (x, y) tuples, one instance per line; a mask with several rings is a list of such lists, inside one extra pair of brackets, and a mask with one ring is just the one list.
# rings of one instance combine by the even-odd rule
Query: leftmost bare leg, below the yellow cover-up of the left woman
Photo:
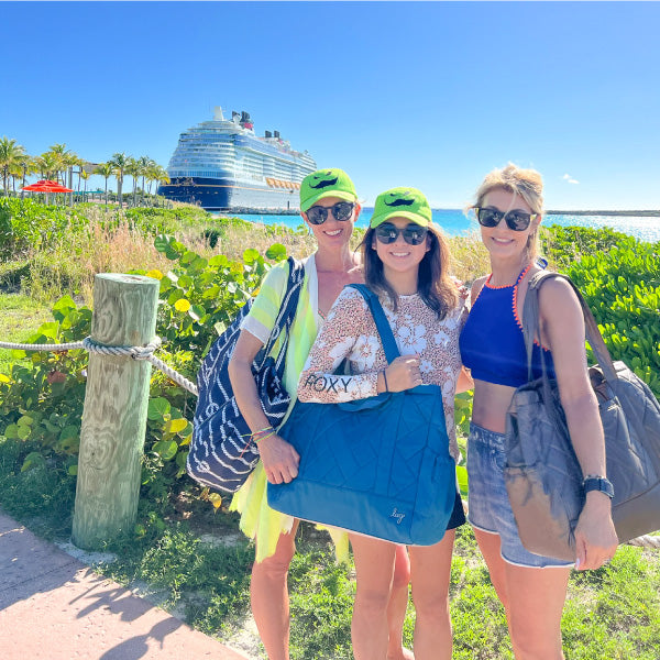
[(268, 660), (288, 660), (289, 598), (287, 575), (296, 551), (296, 530), (283, 534), (275, 553), (252, 564), (250, 598), (252, 616), (256, 623)]

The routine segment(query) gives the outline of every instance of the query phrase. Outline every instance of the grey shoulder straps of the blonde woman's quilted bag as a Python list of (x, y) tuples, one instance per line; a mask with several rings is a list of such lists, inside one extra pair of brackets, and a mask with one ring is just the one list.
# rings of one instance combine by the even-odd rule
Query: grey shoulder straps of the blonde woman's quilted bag
[[(614, 369), (614, 363), (612, 362), (612, 356), (609, 355), (609, 351), (603, 341), (603, 336), (598, 330), (598, 324), (596, 323), (596, 319), (592, 314), (586, 300), (580, 293), (580, 289), (573, 284), (570, 277), (566, 275), (562, 275), (561, 273), (552, 273), (548, 271), (539, 271), (535, 273), (530, 279), (527, 288), (527, 295), (525, 297), (525, 305), (522, 306), (522, 332), (525, 336), (525, 348), (527, 351), (527, 365), (529, 380), (531, 381), (531, 351), (534, 348), (534, 339), (535, 337), (539, 337), (539, 289), (543, 282), (549, 278), (559, 277), (568, 282), (572, 289), (575, 292), (578, 296), (578, 300), (580, 301), (580, 306), (582, 307), (582, 314), (584, 316), (584, 327), (585, 334), (588, 344), (591, 345), (596, 360), (603, 370), (603, 375), (605, 380), (609, 383), (614, 383), (616, 381), (616, 370)], [(541, 352), (542, 354), (542, 352)], [(543, 375), (546, 374), (544, 361), (543, 361)]]

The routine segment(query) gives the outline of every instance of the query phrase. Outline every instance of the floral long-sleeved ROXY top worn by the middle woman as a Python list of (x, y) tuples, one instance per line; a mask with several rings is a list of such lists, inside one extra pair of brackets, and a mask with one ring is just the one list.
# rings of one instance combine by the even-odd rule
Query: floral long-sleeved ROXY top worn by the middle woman
[[(381, 302), (400, 354), (419, 355), (422, 382), (442, 389), (450, 453), (458, 460), (453, 413), (461, 371), (459, 336), (468, 316), (466, 295), (462, 292), (458, 307), (442, 320), (438, 320), (418, 294), (399, 296), (396, 312), (388, 299)], [(298, 398), (340, 403), (375, 396), (378, 371), (386, 366), (385, 352), (366, 301), (355, 289), (344, 288), (311, 346), (298, 382)]]

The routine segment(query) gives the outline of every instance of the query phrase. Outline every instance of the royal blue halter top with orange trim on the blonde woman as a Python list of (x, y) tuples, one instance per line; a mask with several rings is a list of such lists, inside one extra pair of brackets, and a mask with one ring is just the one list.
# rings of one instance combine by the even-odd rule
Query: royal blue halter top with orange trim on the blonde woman
[[(516, 309), (518, 285), (530, 266), (527, 266), (516, 284), (491, 286), (486, 279), (472, 304), (472, 309), (460, 337), (461, 359), (472, 371), (472, 377), (496, 385), (519, 387), (527, 383), (527, 353), (522, 323)], [(552, 355), (542, 349), (548, 375), (554, 377)], [(532, 375), (540, 378), (541, 348), (537, 342), (531, 353)]]

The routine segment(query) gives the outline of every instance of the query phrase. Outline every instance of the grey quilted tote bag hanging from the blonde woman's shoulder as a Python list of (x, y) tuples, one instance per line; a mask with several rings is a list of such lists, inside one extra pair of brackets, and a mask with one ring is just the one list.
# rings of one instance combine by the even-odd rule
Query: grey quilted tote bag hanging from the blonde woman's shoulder
[[(588, 369), (605, 431), (612, 517), (619, 542), (660, 529), (660, 405), (646, 383), (614, 362), (596, 321), (571, 280), (538, 273), (522, 311), (528, 360), (538, 337), (538, 289), (548, 277), (566, 279), (584, 312), (586, 338), (598, 361)], [(530, 552), (575, 559), (574, 529), (584, 505), (582, 470), (571, 444), (557, 382), (519, 387), (506, 417), (504, 477), (518, 534)]]

